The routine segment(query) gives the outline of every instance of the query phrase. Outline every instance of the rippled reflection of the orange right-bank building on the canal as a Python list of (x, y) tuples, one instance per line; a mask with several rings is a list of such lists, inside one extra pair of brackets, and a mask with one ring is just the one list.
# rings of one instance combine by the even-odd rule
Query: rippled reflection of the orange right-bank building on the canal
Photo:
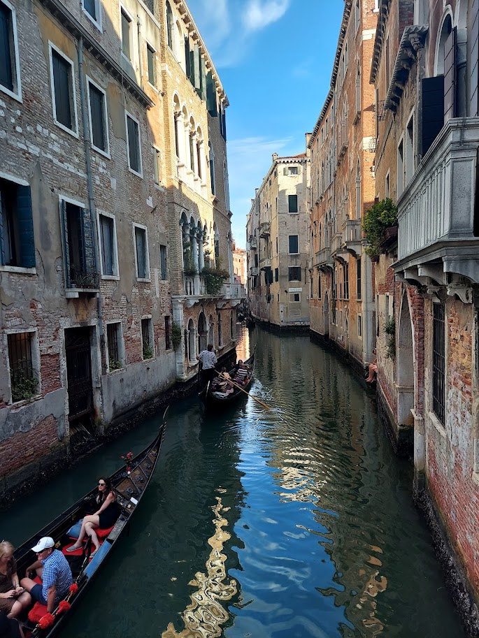
[[(264, 333), (256, 333), (261, 341)], [(267, 339), (269, 347), (257, 349), (256, 365), (264, 387), (270, 381), (275, 388), (262, 399), (278, 407), (282, 417), (275, 423), (269, 460), (278, 497), (313, 506), (307, 531), (318, 536), (334, 563), (338, 584), (320, 592), (333, 596), (362, 635), (372, 637), (383, 630), (376, 601), (387, 581), (380, 570), (380, 542), (371, 514), (382, 504), (373, 500), (373, 473), (363, 471), (367, 398), (341, 363), (320, 347), (301, 345), (299, 357), (298, 338), (269, 334)], [(363, 493), (367, 497), (362, 498)]]

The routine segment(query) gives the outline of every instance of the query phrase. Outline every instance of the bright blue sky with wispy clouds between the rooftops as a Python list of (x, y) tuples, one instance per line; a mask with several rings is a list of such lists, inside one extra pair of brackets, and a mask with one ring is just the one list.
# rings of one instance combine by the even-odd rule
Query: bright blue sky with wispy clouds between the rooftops
[(187, 0), (227, 92), (236, 244), (271, 154), (305, 150), (329, 89), (343, 0)]

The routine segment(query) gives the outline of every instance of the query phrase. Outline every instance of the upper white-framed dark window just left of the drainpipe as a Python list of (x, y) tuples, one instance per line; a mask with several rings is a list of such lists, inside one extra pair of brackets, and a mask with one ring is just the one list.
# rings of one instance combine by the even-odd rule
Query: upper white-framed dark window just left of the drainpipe
[(53, 119), (55, 124), (78, 137), (73, 62), (50, 43)]

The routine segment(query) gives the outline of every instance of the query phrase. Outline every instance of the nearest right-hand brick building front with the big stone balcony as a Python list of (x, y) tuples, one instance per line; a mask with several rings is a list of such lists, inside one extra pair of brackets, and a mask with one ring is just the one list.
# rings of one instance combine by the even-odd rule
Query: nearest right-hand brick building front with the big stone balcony
[(371, 68), (376, 197), (398, 212), (375, 267), (378, 400), (476, 598), (478, 22), (475, 0), (382, 0)]

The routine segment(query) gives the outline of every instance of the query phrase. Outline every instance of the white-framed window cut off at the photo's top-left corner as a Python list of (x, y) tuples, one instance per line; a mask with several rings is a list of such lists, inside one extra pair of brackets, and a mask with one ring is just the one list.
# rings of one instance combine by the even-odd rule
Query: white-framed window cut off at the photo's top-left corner
[(0, 1), (0, 89), (22, 99), (17, 18), (15, 8), (6, 0)]

